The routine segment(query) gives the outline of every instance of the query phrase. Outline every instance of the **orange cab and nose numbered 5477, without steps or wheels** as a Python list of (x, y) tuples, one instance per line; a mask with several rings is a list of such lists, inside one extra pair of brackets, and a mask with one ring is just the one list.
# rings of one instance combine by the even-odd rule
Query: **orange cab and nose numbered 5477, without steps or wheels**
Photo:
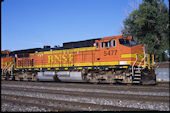
[[(131, 36), (113, 36), (96, 40), (96, 50), (100, 51), (100, 57), (104, 61), (118, 61), (117, 65), (132, 66), (138, 55), (138, 62), (135, 65), (143, 64), (145, 49), (141, 44), (137, 44)], [(122, 63), (124, 62), (124, 63)]]

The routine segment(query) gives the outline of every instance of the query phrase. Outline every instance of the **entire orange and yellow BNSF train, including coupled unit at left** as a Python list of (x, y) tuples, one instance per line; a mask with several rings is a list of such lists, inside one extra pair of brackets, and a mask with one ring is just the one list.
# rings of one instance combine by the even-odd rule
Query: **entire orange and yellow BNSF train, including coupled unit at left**
[(132, 36), (1, 52), (1, 79), (155, 84), (154, 55)]

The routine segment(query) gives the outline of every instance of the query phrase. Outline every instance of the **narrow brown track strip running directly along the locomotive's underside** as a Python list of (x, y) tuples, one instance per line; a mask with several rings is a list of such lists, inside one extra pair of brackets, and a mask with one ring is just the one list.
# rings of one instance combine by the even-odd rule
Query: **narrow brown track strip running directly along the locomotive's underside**
[[(27, 81), (2, 81), (1, 83), (4, 83), (4, 84), (20, 84), (20, 85), (31, 85), (31, 86), (34, 86), (34, 84), (36, 86), (42, 86), (42, 84), (44, 84), (44, 86), (50, 86), (50, 87), (74, 87), (74, 88), (101, 88), (101, 89), (113, 89), (113, 88), (116, 88), (116, 89), (120, 89), (122, 90), (123, 89), (133, 89), (133, 90), (143, 90), (143, 91), (146, 91), (146, 90), (152, 90), (153, 91), (163, 91), (163, 90), (167, 90), (169, 91), (169, 82), (161, 82), (161, 83), (158, 83), (157, 85), (125, 85), (125, 84), (91, 84), (91, 83), (71, 83), (71, 82), (27, 82)], [(155, 87), (156, 86), (156, 87)], [(160, 92), (161, 92), (160, 91)]]

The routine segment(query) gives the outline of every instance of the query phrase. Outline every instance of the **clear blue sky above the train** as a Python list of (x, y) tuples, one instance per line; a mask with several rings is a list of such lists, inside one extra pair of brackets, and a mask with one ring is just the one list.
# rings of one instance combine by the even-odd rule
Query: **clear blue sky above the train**
[(1, 50), (54, 47), (65, 42), (121, 35), (123, 20), (140, 1), (4, 0)]

